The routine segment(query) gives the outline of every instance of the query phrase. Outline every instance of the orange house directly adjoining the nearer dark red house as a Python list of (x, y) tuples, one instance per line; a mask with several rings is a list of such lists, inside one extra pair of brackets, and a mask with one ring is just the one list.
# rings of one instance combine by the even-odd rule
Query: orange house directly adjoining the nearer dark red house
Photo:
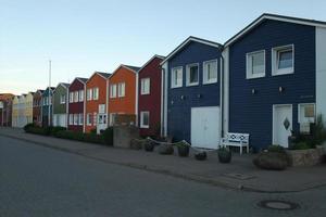
[(108, 114), (110, 126), (116, 124), (116, 117), (121, 115), (134, 115), (136, 122), (136, 80), (139, 68), (130, 65), (120, 65), (109, 78)]

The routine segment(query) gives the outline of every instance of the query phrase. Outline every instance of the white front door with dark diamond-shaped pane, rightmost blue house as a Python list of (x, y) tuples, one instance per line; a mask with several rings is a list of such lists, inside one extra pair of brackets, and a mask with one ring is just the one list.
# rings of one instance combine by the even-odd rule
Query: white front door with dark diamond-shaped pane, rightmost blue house
[(292, 130), (292, 105), (274, 105), (273, 144), (288, 148)]

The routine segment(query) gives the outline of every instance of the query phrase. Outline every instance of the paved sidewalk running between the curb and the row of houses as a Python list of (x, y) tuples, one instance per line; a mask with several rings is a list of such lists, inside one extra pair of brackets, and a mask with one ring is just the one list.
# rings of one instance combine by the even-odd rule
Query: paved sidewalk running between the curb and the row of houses
[(230, 164), (221, 164), (215, 152), (208, 159), (196, 161), (175, 155), (159, 155), (143, 150), (126, 150), (52, 137), (25, 133), (22, 129), (0, 127), (0, 136), (79, 154), (111, 164), (145, 169), (184, 179), (258, 192), (297, 192), (326, 186), (326, 165), (288, 168), (284, 171), (262, 170), (252, 164), (253, 155), (233, 155)]

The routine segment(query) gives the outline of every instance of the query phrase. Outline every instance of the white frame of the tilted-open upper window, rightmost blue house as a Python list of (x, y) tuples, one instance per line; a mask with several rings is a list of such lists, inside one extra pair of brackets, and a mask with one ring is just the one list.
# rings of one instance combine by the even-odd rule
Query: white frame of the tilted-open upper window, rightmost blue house
[[(289, 49), (292, 49), (292, 67), (278, 69), (279, 51), (286, 51)], [(272, 76), (293, 74), (294, 58), (296, 58), (294, 44), (287, 44), (287, 46), (272, 48)]]

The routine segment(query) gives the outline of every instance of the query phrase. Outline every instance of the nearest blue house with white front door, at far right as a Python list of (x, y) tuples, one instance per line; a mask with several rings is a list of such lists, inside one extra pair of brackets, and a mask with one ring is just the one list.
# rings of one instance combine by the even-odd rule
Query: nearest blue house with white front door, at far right
[(326, 114), (326, 23), (263, 14), (225, 43), (228, 131), (288, 148)]

